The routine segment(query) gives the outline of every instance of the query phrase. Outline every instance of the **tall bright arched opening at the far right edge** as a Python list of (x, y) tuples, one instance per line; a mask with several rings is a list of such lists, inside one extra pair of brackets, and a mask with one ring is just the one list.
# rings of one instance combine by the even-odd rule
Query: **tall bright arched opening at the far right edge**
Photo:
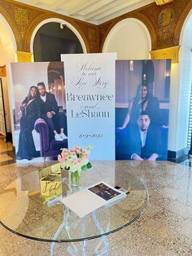
[(192, 131), (192, 10), (186, 17), (180, 37), (180, 88), (177, 113), (177, 148), (190, 147)]

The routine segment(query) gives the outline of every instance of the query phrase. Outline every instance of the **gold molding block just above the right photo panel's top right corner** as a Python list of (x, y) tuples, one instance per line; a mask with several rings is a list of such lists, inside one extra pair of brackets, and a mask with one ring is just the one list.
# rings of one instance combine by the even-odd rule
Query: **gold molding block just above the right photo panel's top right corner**
[(172, 63), (177, 63), (179, 60), (180, 46), (172, 46), (156, 51), (151, 51), (151, 59), (172, 59)]

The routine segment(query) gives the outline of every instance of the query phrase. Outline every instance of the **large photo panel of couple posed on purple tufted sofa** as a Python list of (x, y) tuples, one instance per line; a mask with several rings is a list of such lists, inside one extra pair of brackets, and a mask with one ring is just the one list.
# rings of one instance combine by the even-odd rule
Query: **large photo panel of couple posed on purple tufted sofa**
[(12, 63), (17, 161), (51, 161), (68, 148), (62, 62)]

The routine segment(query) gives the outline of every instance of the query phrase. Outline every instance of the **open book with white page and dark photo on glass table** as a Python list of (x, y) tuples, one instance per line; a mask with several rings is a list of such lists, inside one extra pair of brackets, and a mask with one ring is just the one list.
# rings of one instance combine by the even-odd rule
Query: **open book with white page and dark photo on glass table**
[(82, 218), (99, 207), (108, 205), (124, 196), (126, 196), (126, 192), (113, 188), (102, 181), (80, 192), (66, 196), (60, 201)]

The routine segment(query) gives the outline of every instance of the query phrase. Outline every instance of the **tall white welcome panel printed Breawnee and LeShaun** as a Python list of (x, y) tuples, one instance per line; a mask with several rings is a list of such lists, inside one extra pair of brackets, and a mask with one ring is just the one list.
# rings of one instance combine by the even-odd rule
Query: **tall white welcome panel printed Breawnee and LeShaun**
[(68, 148), (91, 144), (91, 160), (115, 159), (116, 53), (61, 55)]

